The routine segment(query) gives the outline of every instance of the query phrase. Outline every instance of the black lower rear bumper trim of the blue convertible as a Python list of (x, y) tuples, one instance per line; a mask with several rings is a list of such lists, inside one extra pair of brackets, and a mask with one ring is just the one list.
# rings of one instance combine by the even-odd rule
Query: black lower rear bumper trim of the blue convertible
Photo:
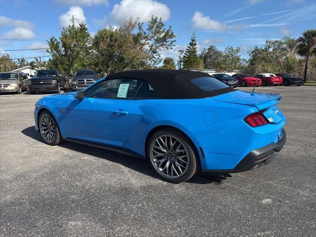
[(261, 165), (269, 164), (281, 151), (286, 141), (286, 132), (282, 128), (282, 135), (278, 142), (270, 143), (269, 145), (253, 150), (248, 153), (233, 169), (221, 169), (221, 170), (205, 170), (205, 173), (237, 173), (250, 170)]

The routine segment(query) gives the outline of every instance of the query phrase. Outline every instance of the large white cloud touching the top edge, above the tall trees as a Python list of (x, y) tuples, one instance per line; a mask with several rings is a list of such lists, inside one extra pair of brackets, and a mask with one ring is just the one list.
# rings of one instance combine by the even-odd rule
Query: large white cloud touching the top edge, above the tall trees
[(122, 23), (130, 17), (139, 18), (140, 22), (148, 22), (152, 15), (166, 21), (170, 17), (170, 9), (155, 0), (121, 0), (119, 4), (114, 5), (110, 17), (116, 23)]

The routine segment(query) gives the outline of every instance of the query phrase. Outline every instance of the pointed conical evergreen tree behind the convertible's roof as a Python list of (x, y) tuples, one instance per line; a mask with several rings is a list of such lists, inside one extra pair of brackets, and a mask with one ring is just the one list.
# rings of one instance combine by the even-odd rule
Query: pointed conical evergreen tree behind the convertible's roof
[(191, 41), (183, 56), (183, 68), (187, 70), (203, 70), (203, 61), (197, 56), (197, 40), (193, 33)]

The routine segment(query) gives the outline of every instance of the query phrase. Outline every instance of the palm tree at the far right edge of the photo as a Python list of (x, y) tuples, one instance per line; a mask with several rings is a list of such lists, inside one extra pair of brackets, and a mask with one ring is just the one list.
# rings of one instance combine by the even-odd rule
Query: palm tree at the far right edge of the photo
[(298, 54), (306, 57), (304, 68), (304, 82), (306, 82), (309, 57), (316, 55), (316, 30), (305, 31), (302, 36), (297, 39), (297, 42)]

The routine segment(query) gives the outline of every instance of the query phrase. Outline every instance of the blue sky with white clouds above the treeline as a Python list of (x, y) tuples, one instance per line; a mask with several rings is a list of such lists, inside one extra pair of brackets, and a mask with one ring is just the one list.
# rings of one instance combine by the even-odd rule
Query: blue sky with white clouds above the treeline
[[(146, 23), (152, 14), (172, 26), (176, 46), (161, 54), (175, 59), (193, 32), (198, 50), (239, 46), (248, 58), (246, 52), (265, 40), (316, 29), (315, 0), (0, 0), (0, 50), (47, 47), (46, 40), (58, 37), (72, 15), (93, 35), (130, 16)], [(45, 50), (8, 53), (14, 58), (48, 55)]]

